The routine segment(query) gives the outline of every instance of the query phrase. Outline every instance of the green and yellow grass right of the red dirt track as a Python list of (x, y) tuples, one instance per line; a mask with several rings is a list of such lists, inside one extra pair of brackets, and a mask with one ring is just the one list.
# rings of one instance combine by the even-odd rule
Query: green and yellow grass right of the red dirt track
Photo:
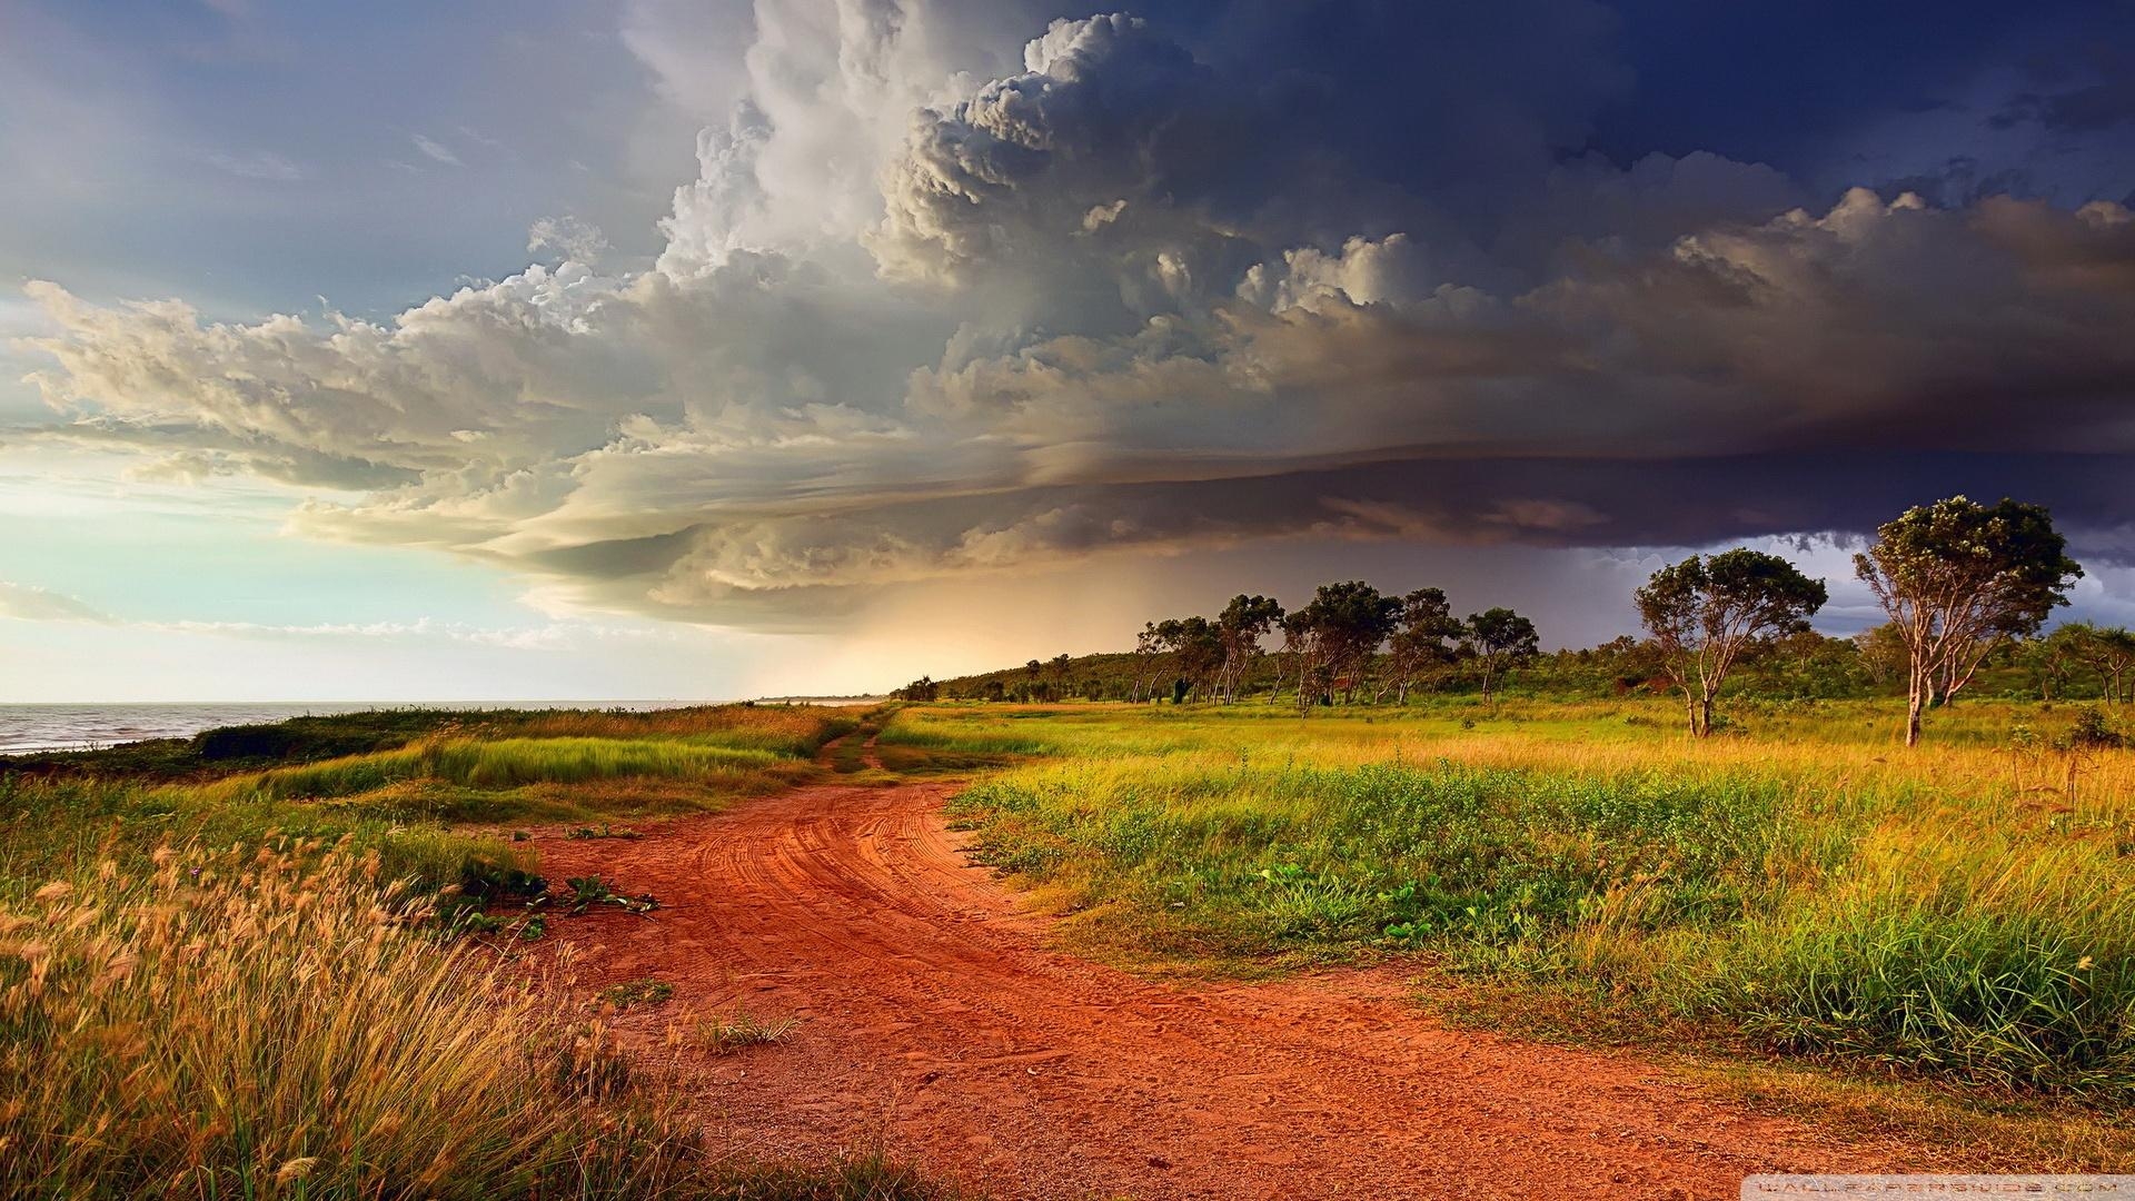
[(1958, 712), (1915, 754), (1868, 705), (1704, 744), (1663, 716), (944, 707), (884, 737), (1046, 757), (956, 812), (1114, 947), (1422, 951), (1501, 1024), (2122, 1105), (2135, 754), (2054, 750), (2075, 714), (2039, 707)]

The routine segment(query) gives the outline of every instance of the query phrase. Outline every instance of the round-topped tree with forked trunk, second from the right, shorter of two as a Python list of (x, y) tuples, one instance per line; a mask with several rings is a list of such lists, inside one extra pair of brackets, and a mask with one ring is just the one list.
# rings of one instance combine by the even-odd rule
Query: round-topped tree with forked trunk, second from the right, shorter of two
[(1712, 703), (1742, 652), (1806, 630), (1830, 592), (1791, 562), (1742, 547), (1663, 566), (1633, 600), (1661, 648), (1661, 671), (1682, 692), (1691, 737), (1706, 737)]

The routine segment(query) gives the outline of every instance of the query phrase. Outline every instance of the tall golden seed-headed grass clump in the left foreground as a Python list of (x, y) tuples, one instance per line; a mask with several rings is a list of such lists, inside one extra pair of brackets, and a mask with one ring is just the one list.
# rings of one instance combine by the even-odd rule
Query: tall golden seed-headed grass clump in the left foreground
[(0, 1195), (916, 1199), (764, 1169), (523, 972), (423, 932), (374, 855), (160, 848), (0, 908)]

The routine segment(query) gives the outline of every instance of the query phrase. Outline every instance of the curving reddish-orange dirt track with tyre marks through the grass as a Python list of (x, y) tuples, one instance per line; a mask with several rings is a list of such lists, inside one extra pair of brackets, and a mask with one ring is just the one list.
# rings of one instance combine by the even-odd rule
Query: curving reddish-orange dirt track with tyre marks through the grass
[(760, 1154), (886, 1145), (989, 1197), (1736, 1197), (1749, 1171), (1870, 1169), (1629, 1058), (1443, 1030), (1398, 977), (1174, 987), (1044, 949), (971, 868), (948, 784), (809, 786), (643, 840), (540, 840), (662, 900), (564, 923), (600, 981), (677, 1011), (805, 1015), (687, 1062)]

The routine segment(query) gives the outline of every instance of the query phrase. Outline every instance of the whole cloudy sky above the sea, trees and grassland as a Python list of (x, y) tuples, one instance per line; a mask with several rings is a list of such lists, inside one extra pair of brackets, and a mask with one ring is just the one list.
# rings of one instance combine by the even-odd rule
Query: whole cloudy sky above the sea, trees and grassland
[(730, 699), (2054, 509), (2135, 4), (0, 0), (0, 701)]

